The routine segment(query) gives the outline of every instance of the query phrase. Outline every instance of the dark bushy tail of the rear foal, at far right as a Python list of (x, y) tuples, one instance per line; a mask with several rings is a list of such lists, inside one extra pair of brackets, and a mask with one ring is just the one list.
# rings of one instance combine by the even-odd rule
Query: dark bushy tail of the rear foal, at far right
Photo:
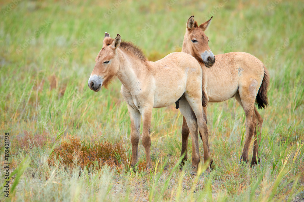
[(269, 85), (269, 73), (264, 65), (264, 78), (257, 93), (257, 98), (255, 99), (255, 104), (259, 107), (259, 109), (267, 107), (268, 105), (268, 98), (267, 98), (267, 90)]

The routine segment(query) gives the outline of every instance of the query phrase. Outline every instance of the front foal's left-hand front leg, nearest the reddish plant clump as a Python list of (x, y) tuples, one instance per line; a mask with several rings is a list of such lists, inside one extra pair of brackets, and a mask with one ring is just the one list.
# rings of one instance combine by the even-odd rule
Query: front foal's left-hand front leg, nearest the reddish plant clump
[(140, 112), (128, 105), (128, 112), (131, 119), (131, 143), (132, 143), (132, 161), (131, 167), (138, 162), (138, 143), (140, 138)]

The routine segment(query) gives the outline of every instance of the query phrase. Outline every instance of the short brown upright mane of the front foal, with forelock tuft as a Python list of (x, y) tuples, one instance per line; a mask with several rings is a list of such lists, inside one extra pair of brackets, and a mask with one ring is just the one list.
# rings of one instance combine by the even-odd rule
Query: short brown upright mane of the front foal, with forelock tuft
[[(105, 45), (111, 45), (114, 41), (114, 38), (105, 38)], [(143, 54), (143, 51), (138, 48), (136, 45), (134, 45), (132, 42), (129, 41), (121, 41), (119, 47), (120, 49), (123, 49), (126, 52), (132, 53), (136, 57), (138, 57), (142, 61), (147, 61), (146, 56)]]

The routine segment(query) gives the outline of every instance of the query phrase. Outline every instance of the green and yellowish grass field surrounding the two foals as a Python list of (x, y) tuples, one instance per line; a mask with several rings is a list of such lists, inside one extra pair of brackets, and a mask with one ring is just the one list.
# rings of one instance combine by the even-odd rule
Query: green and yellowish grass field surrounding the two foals
[[(7, 200), (304, 200), (302, 1), (2, 1), (0, 6), (0, 161), (4, 167), (9, 132), (13, 173)], [(189, 160), (182, 170), (175, 167), (182, 116), (174, 106), (153, 110), (150, 172), (49, 165), (54, 146), (71, 136), (88, 144), (120, 142), (130, 157), (130, 118), (120, 82), (98, 93), (87, 87), (104, 33), (133, 41), (156, 61), (181, 51), (191, 15), (198, 23), (213, 15), (205, 33), (214, 54), (248, 52), (269, 70), (269, 106), (259, 110), (264, 120), (259, 166), (238, 163), (245, 114), (233, 99), (208, 105), (210, 174), (190, 175), (191, 141)], [(202, 154), (201, 142), (200, 148)], [(144, 161), (142, 144), (139, 155)]]

